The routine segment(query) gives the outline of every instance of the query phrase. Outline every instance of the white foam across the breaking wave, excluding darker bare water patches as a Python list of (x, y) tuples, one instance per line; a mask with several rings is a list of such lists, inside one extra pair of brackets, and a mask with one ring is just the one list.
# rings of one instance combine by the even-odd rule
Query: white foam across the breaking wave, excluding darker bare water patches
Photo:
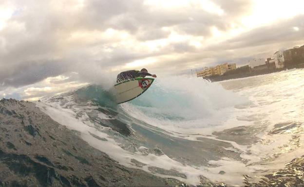
[[(239, 83), (242, 83), (242, 86)], [(99, 94), (91, 94), (92, 90), (98, 89), (85, 89), (81, 94), (92, 96), (87, 97), (89, 101)], [(111, 104), (105, 104), (109, 102), (100, 101), (108, 101), (109, 98), (105, 98), (107, 94), (102, 92), (101, 95), (102, 97), (95, 99), (95, 102), (99, 103), (98, 107), (110, 106)], [(68, 101), (45, 100), (37, 102), (37, 105), (57, 122), (81, 132), (81, 137), (90, 145), (125, 166), (162, 177), (177, 178), (193, 185), (198, 184), (199, 176), (203, 175), (213, 182), (243, 186), (243, 175), (259, 179), (263, 173), (283, 168), (285, 163), (303, 154), (301, 129), (289, 130), (288, 133), (269, 133), (279, 123), (297, 122), (298, 126), (304, 124), (303, 95), (304, 73), (301, 69), (221, 83), (210, 83), (198, 78), (159, 77), (142, 96), (132, 102), (108, 108), (114, 110), (116, 116), (96, 113), (99, 119), (114, 118), (130, 125), (134, 133), (134, 136), (130, 137), (114, 134), (111, 128), (100, 127), (92, 122), (87, 114), (96, 108), (91, 102), (77, 104), (75, 98), (65, 97), (64, 100)], [(209, 166), (203, 166), (191, 165), (191, 161), (188, 164), (177, 161), (165, 151), (163, 155), (155, 155), (149, 152), (148, 146), (136, 140), (141, 134), (132, 128), (133, 123), (150, 129), (150, 133), (165, 133), (169, 137), (202, 143), (204, 141), (200, 138), (228, 143), (231, 146), (225, 147), (224, 150), (238, 153), (240, 159), (224, 156), (209, 160)], [(254, 136), (257, 141), (239, 145), (231, 139), (222, 140), (212, 134), (238, 126), (250, 126), (256, 130), (256, 133), (248, 136)], [(238, 132), (230, 133), (238, 136)], [(91, 134), (108, 141), (95, 138)], [(127, 149), (128, 145), (133, 144), (134, 151)], [(145, 151), (146, 149), (148, 151)], [(212, 149), (213, 147), (210, 147), (210, 150)], [(136, 166), (132, 162), (133, 159), (144, 166)], [(155, 173), (151, 168), (149, 170), (149, 167), (176, 170), (184, 173), (187, 179)]]

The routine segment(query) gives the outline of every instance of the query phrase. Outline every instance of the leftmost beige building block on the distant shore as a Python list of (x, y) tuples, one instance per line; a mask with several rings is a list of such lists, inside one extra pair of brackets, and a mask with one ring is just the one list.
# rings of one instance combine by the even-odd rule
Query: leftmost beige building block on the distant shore
[(233, 64), (221, 64), (216, 67), (212, 68), (206, 68), (204, 70), (201, 70), (197, 72), (197, 77), (209, 77), (209, 76), (214, 76), (214, 75), (223, 75), (226, 71), (236, 69), (235, 63)]

